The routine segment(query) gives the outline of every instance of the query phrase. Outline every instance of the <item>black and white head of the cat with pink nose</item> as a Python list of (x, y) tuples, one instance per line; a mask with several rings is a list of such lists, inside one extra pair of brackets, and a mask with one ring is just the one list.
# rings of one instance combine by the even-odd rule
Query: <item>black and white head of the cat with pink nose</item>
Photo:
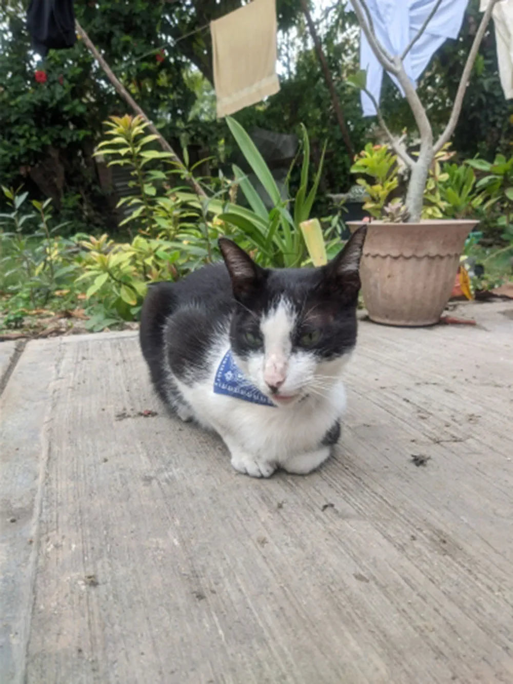
[(232, 352), (241, 371), (277, 406), (322, 397), (356, 343), (358, 268), (366, 228), (326, 266), (265, 269), (220, 239), (237, 306)]

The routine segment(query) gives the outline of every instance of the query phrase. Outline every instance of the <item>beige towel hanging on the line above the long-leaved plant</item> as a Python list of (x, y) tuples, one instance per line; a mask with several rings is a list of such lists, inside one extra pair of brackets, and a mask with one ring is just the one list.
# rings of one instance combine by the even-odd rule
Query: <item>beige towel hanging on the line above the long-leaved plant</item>
[(253, 0), (210, 24), (218, 117), (280, 90), (276, 76), (276, 0)]

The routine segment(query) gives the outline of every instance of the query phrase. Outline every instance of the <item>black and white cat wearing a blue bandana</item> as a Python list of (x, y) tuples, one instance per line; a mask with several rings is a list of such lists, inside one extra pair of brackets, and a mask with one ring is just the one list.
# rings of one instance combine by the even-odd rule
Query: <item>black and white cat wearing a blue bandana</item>
[(301, 269), (264, 269), (222, 238), (224, 263), (150, 288), (140, 342), (155, 389), (181, 419), (220, 434), (235, 470), (305, 474), (330, 456), (365, 231), (328, 265)]

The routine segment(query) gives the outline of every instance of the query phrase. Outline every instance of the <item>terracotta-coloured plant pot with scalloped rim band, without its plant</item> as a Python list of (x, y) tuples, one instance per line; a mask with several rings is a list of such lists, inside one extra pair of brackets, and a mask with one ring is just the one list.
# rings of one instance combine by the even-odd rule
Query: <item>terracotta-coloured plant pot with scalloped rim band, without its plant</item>
[[(466, 236), (477, 221), (369, 224), (360, 278), (369, 318), (389, 326), (431, 326), (451, 296)], [(349, 222), (351, 231), (361, 222)]]

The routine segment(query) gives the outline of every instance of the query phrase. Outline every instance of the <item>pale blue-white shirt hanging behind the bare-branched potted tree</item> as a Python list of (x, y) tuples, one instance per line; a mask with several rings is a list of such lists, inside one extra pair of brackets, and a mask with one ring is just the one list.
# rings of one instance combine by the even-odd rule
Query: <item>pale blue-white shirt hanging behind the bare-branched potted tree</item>
[[(509, 1), (509, 0), (508, 0)], [(367, 0), (376, 38), (391, 55), (402, 55), (433, 9), (436, 0)], [(447, 38), (457, 38), (468, 0), (443, 0), (422, 36), (404, 58), (406, 74), (416, 86), (432, 55)], [(383, 67), (361, 31), (360, 68), (367, 71), (367, 90), (380, 101)], [(394, 77), (399, 91), (397, 79)], [(361, 94), (363, 116), (373, 116), (371, 98)]]

